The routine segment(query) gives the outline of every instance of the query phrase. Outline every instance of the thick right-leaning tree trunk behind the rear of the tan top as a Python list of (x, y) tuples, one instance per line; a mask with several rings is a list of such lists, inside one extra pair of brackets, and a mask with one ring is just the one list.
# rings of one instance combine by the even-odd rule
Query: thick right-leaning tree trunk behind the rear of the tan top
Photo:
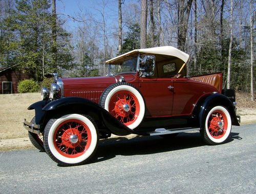
[(178, 6), (178, 48), (181, 51), (185, 51), (186, 34), (190, 9), (193, 0), (180, 0)]

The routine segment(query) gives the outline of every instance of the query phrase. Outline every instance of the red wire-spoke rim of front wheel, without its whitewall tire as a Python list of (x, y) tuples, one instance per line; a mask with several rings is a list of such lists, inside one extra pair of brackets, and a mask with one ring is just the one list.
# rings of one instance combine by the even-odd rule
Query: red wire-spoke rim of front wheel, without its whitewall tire
[(90, 147), (92, 135), (86, 124), (77, 119), (62, 122), (54, 132), (54, 146), (63, 156), (81, 156)]

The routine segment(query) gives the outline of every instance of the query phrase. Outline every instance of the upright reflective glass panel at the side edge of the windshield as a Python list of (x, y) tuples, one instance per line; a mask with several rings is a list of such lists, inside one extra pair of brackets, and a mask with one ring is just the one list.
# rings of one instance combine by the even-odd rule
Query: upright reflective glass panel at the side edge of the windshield
[(140, 76), (150, 77), (155, 74), (156, 56), (144, 55), (140, 59)]

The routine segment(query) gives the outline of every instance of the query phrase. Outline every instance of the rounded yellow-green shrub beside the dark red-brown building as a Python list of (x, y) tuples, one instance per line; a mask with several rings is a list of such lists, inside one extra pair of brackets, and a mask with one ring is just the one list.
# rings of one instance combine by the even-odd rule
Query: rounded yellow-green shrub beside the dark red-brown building
[(37, 82), (35, 82), (33, 79), (23, 80), (18, 83), (19, 93), (38, 92), (39, 90), (40, 90), (40, 85)]

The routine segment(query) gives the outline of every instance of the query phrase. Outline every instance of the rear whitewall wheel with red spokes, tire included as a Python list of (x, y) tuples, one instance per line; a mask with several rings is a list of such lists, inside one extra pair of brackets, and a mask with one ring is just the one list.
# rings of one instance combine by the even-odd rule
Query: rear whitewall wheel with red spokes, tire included
[(216, 145), (227, 140), (231, 132), (231, 117), (223, 106), (216, 106), (206, 112), (201, 129), (205, 142)]

